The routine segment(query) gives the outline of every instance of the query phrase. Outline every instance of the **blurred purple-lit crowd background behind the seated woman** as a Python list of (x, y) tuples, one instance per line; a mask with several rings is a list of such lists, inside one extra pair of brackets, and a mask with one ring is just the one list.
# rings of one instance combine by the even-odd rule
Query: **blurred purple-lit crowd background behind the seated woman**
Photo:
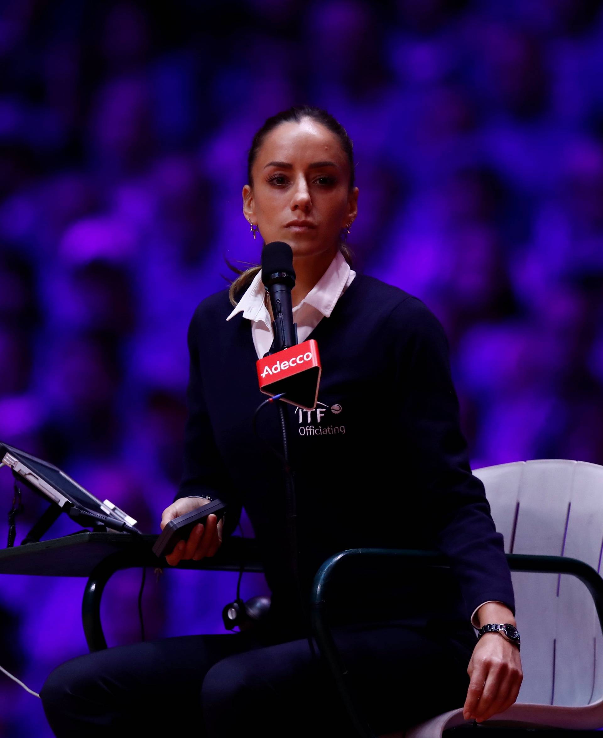
[[(0, 439), (158, 531), (181, 469), (189, 318), (225, 286), (225, 258), (259, 259), (241, 213), (251, 137), (309, 103), (355, 142), (358, 269), (445, 325), (473, 466), (603, 463), (601, 3), (149, 7), (1, 11)], [(0, 469), (6, 511), (11, 498)], [(28, 494), (26, 522), (43, 507)], [(111, 645), (139, 638), (139, 579), (108, 585)], [(235, 579), (150, 573), (148, 635), (223, 632)], [(34, 689), (86, 652), (83, 584), (1, 579), (0, 664)], [(244, 596), (263, 591), (245, 575)], [(0, 734), (50, 735), (2, 675)]]

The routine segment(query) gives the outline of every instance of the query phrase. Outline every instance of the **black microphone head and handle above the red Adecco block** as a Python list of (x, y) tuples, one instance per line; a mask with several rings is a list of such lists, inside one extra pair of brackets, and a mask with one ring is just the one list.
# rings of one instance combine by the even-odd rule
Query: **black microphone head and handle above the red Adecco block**
[(291, 290), (295, 286), (293, 251), (283, 241), (272, 241), (262, 249), (262, 283), (270, 294), (274, 340), (269, 354), (297, 343), (297, 326), (293, 323)]

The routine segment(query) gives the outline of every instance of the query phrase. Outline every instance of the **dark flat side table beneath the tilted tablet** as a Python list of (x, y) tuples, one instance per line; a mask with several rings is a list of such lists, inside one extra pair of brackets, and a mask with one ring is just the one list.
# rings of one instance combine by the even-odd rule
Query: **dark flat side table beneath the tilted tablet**
[(116, 568), (152, 566), (164, 569), (204, 569), (236, 571), (241, 559), (246, 571), (262, 571), (253, 539), (230, 537), (215, 556), (201, 561), (181, 562), (170, 567), (165, 559), (153, 554), (157, 536), (142, 538), (124, 533), (91, 533), (82, 531), (27, 545), (0, 550), (0, 574), (34, 576), (90, 576), (94, 568), (111, 556)]

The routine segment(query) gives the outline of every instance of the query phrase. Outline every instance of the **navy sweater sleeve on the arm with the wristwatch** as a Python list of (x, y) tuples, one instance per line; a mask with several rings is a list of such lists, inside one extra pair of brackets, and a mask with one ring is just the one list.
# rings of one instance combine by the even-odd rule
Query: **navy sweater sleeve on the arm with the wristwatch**
[(391, 319), (410, 476), (430, 501), (436, 541), (459, 581), (467, 618), (489, 600), (515, 613), (503, 537), (484, 485), (471, 473), (444, 329), (415, 297), (400, 303)]

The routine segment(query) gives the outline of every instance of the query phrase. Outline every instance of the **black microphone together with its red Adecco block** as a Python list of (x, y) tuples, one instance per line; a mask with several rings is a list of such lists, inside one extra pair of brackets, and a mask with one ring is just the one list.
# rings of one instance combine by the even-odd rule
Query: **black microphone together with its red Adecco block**
[(262, 250), (262, 283), (270, 294), (274, 340), (270, 351), (256, 362), (259, 391), (283, 402), (314, 410), (318, 401), (321, 359), (318, 344), (310, 339), (297, 344), (291, 289), (295, 286), (293, 251), (273, 241)]

